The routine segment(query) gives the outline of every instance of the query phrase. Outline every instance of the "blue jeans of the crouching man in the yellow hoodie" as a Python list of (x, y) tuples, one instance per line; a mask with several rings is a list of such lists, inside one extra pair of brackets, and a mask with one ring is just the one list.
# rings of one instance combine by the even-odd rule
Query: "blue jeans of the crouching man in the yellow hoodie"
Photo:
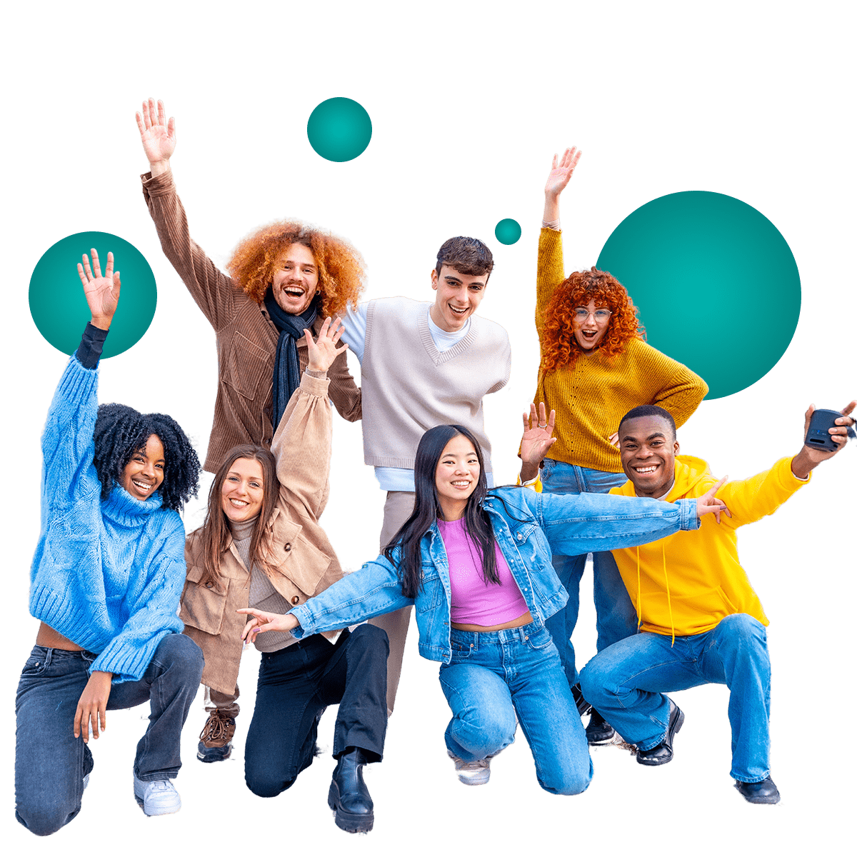
[(668, 691), (699, 685), (729, 688), (731, 776), (759, 782), (770, 776), (770, 656), (761, 622), (744, 613), (713, 630), (670, 638), (639, 633), (599, 652), (580, 674), (584, 696), (641, 750), (667, 734)]

